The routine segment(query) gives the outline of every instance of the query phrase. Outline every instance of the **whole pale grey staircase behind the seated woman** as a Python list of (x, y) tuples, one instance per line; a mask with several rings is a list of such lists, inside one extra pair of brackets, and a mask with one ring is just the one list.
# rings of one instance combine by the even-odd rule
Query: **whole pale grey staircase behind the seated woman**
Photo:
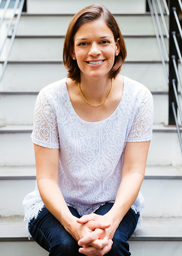
[[(182, 255), (182, 156), (176, 128), (167, 127), (168, 88), (145, 0), (27, 0), (0, 91), (2, 256), (48, 256), (28, 241), (23, 223), (22, 200), (33, 191), (36, 176), (33, 110), (40, 89), (66, 76), (62, 48), (71, 17), (93, 3), (117, 14), (128, 52), (121, 74), (143, 83), (154, 98), (153, 140), (141, 188), (146, 207), (141, 230), (129, 241), (131, 254)], [(182, 76), (182, 67), (179, 72)]]

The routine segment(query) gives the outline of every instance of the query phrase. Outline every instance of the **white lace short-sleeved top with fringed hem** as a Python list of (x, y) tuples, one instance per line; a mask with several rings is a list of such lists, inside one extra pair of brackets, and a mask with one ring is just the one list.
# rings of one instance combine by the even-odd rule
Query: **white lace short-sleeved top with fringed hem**
[[(60, 148), (59, 188), (67, 205), (80, 215), (90, 214), (105, 202), (114, 202), (118, 191), (126, 142), (151, 140), (153, 98), (142, 84), (124, 78), (122, 99), (105, 120), (83, 121), (72, 107), (66, 78), (42, 89), (37, 97), (32, 142)], [(25, 196), (25, 223), (44, 207), (37, 185)], [(132, 208), (141, 211), (139, 193)]]

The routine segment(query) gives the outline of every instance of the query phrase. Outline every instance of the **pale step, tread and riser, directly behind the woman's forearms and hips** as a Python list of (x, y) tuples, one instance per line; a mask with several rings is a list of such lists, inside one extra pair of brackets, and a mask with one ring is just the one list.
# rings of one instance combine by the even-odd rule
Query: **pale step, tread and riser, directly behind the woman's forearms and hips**
[[(0, 167), (1, 217), (24, 215), (22, 201), (35, 188), (35, 166)], [(147, 166), (143, 217), (182, 217), (182, 166)]]

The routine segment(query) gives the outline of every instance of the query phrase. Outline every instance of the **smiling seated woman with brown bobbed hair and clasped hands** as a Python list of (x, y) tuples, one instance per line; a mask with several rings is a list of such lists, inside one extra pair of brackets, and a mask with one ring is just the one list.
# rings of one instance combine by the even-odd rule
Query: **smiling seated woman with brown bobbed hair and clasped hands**
[(144, 205), (139, 192), (152, 136), (153, 100), (119, 76), (126, 47), (106, 7), (68, 26), (67, 78), (37, 97), (32, 141), (37, 185), (24, 199), (28, 232), (51, 256), (131, 255)]

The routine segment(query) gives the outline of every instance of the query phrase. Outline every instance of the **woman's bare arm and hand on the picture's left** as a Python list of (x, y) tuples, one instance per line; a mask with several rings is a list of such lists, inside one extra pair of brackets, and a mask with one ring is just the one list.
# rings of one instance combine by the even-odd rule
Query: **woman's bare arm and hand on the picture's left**
[[(85, 224), (76, 222), (78, 218), (74, 217), (58, 185), (58, 167), (59, 167), (59, 149), (50, 149), (34, 144), (36, 160), (36, 179), (41, 199), (46, 208), (58, 219), (64, 228), (78, 241), (96, 228), (105, 229), (110, 223), (90, 221)], [(108, 238), (97, 240), (95, 248), (90, 247), (91, 252), (109, 251), (111, 242)], [(104, 248), (105, 247), (105, 248)], [(92, 254), (94, 255), (94, 253)], [(99, 255), (99, 254), (98, 254)]]

